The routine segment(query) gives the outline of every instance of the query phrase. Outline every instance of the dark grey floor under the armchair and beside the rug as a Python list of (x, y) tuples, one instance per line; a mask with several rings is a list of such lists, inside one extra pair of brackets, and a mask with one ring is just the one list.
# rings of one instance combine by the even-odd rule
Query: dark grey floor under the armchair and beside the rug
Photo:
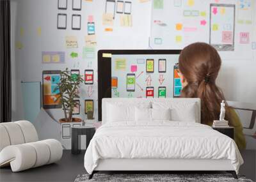
[[(256, 151), (241, 151), (244, 165), (239, 174), (255, 181)], [(12, 172), (10, 167), (0, 169), (0, 181), (74, 181), (78, 174), (86, 173), (84, 169), (84, 151), (79, 155), (72, 155), (70, 150), (63, 151), (61, 160), (57, 163), (44, 165), (22, 172)]]

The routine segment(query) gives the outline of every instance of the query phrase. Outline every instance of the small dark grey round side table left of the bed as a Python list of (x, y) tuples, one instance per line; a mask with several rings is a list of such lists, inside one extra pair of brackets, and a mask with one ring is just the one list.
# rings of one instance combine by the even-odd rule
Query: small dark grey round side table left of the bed
[(86, 149), (92, 140), (92, 137), (95, 133), (95, 126), (87, 125), (87, 126), (73, 126), (72, 127), (72, 136), (71, 136), (71, 153), (79, 154), (81, 153), (81, 149), (78, 149), (78, 136), (86, 135)]

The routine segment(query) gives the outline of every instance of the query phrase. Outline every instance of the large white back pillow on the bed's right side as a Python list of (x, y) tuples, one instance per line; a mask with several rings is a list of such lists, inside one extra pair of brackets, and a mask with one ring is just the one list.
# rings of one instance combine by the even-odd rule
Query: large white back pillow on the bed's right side
[(152, 102), (153, 109), (170, 108), (172, 121), (196, 122), (195, 102)]

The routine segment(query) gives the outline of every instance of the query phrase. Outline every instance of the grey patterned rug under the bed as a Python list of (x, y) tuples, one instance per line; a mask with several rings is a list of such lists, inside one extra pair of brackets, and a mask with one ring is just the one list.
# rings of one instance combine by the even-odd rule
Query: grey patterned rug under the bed
[(251, 179), (246, 179), (244, 176), (238, 176), (239, 179), (234, 179), (232, 174), (94, 174), (92, 179), (88, 179), (89, 174), (79, 174), (75, 182), (93, 182), (93, 181), (207, 181), (207, 182), (221, 182), (221, 181), (243, 181), (253, 182)]

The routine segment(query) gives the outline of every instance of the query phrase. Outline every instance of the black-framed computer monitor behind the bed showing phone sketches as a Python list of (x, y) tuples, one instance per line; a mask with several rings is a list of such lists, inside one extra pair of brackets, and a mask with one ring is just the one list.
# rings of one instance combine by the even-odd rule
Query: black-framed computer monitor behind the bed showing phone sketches
[(102, 98), (179, 96), (179, 54), (180, 50), (99, 50), (99, 121)]

